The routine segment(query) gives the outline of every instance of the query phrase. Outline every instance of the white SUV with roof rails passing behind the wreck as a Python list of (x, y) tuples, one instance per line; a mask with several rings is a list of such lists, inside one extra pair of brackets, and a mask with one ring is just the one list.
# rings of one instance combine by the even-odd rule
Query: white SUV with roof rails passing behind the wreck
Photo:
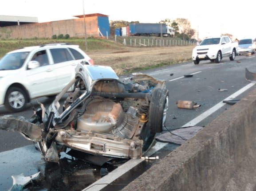
[(7, 53), (0, 60), (0, 105), (18, 112), (35, 97), (58, 94), (75, 77), (78, 63), (94, 65), (78, 45), (66, 43)]

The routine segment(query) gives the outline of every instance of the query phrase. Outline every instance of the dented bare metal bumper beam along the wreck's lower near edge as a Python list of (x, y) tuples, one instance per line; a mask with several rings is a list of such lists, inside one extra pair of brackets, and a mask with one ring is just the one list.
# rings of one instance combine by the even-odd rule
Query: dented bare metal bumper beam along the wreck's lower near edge
[(142, 140), (123, 139), (101, 133), (59, 131), (59, 145), (95, 155), (138, 159), (142, 156)]

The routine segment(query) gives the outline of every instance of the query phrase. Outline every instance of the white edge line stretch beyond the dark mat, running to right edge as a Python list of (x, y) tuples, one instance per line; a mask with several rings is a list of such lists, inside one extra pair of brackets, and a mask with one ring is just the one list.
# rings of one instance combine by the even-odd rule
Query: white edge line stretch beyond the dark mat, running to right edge
[[(227, 98), (225, 98), (224, 100), (234, 99), (235, 97), (239, 96), (240, 94), (242, 94), (243, 92), (245, 92), (246, 90), (248, 90), (249, 88), (251, 88), (254, 85), (255, 85), (255, 83), (249, 83), (248, 85), (244, 86), (240, 90), (236, 91), (234, 94), (232, 94), (232, 95), (228, 96)], [(199, 115), (196, 118), (194, 118), (193, 120), (189, 121), (188, 123), (186, 123), (182, 127), (189, 127), (189, 126), (197, 125), (200, 121), (204, 120), (206, 117), (208, 117), (212, 113), (216, 112), (218, 109), (220, 109), (225, 104), (226, 103), (223, 103), (223, 100), (222, 100), (221, 102), (217, 103), (217, 105), (214, 105), (212, 108), (208, 109), (207, 111), (205, 111), (201, 115)]]

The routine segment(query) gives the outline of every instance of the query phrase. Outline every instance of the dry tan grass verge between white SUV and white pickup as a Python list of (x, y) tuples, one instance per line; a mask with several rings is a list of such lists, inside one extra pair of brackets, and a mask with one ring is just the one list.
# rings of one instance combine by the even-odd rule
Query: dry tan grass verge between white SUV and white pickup
[(193, 47), (125, 47), (120, 50), (88, 51), (87, 54), (95, 65), (111, 66), (117, 74), (125, 74), (189, 61)]

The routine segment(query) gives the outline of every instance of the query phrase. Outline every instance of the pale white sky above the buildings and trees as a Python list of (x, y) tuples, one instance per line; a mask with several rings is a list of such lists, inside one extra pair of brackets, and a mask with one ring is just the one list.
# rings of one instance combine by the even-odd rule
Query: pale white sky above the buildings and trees
[(83, 10), (140, 23), (185, 18), (200, 39), (225, 33), (255, 39), (255, 8), (256, 0), (2, 0), (0, 15), (33, 16), (39, 23), (72, 19)]

